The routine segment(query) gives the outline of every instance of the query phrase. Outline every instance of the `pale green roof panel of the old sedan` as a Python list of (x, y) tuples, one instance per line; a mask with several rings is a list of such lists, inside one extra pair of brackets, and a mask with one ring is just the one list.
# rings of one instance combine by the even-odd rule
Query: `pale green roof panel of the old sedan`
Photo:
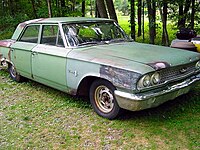
[(55, 17), (55, 18), (39, 18), (24, 22), (25, 24), (31, 23), (69, 23), (69, 22), (90, 22), (90, 21), (110, 21), (106, 18), (87, 18), (87, 17)]

